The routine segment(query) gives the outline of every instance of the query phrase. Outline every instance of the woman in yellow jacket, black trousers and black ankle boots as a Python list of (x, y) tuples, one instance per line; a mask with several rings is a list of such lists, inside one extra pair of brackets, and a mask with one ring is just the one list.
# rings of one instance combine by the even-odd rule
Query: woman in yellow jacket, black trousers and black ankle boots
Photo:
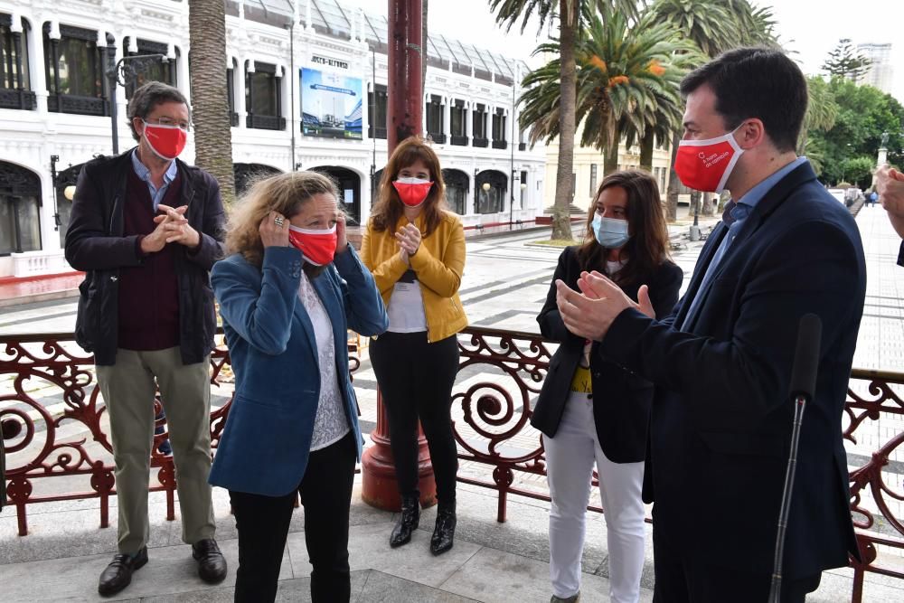
[(361, 245), (390, 327), (371, 344), (371, 363), (389, 419), (401, 495), (390, 545), (411, 540), (420, 518), (418, 419), (437, 480), (437, 524), (430, 551), (452, 548), (458, 457), (452, 434), (452, 385), (458, 370), (456, 334), (467, 325), (458, 299), (465, 267), (465, 231), (444, 210), (446, 189), (433, 149), (421, 138), (396, 146), (383, 170), (380, 198)]

